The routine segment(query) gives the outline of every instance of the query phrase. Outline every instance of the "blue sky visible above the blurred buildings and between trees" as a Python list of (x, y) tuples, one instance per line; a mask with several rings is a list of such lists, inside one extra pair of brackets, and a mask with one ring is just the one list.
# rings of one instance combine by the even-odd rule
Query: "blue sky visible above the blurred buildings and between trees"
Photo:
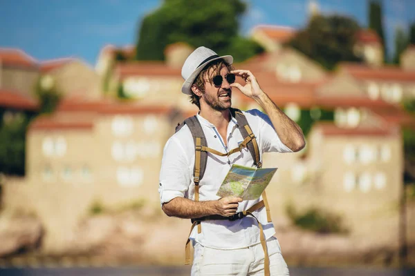
[[(95, 64), (106, 44), (135, 43), (139, 23), (161, 0), (0, 0), (0, 47), (20, 48), (39, 61), (79, 57)], [(301, 28), (308, 0), (250, 0), (241, 32), (257, 24)], [(318, 0), (324, 14), (347, 14), (367, 26), (366, 0)], [(415, 21), (414, 0), (383, 0), (389, 49), (397, 26)]]

